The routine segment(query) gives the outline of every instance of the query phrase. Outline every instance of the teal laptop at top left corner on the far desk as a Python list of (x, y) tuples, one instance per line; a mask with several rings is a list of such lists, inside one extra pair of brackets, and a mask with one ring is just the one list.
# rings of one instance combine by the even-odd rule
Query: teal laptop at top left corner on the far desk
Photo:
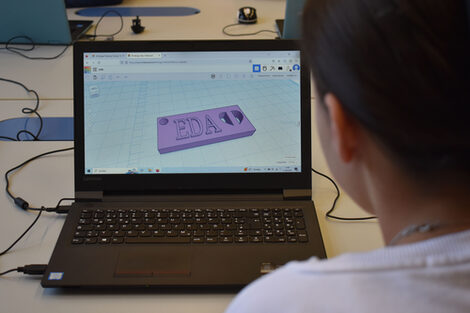
[(0, 43), (69, 45), (85, 34), (92, 22), (68, 21), (63, 0), (1, 1)]

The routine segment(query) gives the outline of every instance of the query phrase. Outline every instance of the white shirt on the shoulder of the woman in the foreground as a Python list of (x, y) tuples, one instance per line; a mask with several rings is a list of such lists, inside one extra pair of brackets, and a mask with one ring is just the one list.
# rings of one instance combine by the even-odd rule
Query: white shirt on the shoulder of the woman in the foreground
[(470, 312), (470, 231), (330, 260), (290, 262), (226, 313)]

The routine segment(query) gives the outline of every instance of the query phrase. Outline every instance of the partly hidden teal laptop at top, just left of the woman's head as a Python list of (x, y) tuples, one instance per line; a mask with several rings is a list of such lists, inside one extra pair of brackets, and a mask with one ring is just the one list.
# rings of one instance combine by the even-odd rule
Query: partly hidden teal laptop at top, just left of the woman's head
[(279, 37), (282, 39), (300, 39), (302, 36), (302, 11), (305, 0), (286, 0), (284, 19), (276, 20)]

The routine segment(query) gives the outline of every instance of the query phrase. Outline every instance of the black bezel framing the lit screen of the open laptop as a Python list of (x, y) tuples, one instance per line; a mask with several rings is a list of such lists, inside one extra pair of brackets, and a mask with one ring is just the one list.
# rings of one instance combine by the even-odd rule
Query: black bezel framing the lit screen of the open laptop
[(114, 41), (74, 44), (75, 191), (232, 191), (311, 189), (310, 73), (301, 51), (301, 172), (85, 174), (83, 54), (93, 52), (301, 51), (292, 40)]

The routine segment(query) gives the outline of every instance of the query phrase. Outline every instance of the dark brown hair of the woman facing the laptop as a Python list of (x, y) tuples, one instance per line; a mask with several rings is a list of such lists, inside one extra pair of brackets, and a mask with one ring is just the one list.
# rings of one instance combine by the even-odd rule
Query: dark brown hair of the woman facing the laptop
[(465, 1), (309, 0), (304, 9), (318, 100), (335, 94), (415, 174), (470, 176)]

